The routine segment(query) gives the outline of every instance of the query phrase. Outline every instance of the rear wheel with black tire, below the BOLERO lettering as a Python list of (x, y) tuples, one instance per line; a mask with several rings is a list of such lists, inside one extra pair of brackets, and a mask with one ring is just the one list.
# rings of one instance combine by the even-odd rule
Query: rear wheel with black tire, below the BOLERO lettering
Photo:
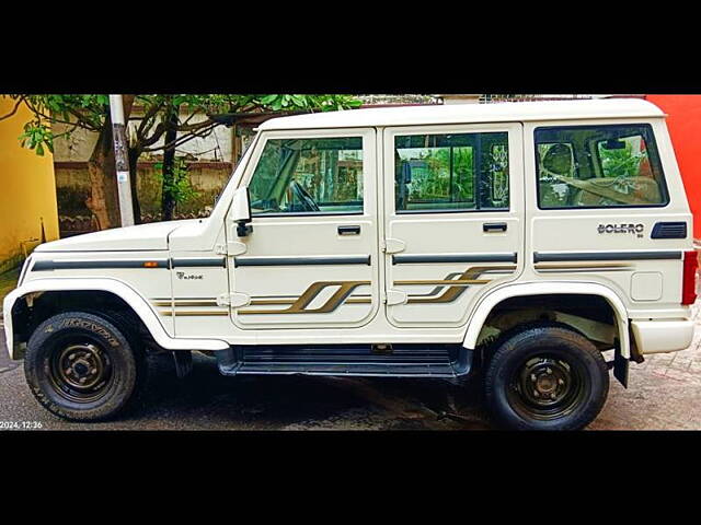
[(497, 425), (579, 430), (601, 411), (609, 371), (601, 352), (568, 327), (535, 324), (504, 335), (484, 378)]

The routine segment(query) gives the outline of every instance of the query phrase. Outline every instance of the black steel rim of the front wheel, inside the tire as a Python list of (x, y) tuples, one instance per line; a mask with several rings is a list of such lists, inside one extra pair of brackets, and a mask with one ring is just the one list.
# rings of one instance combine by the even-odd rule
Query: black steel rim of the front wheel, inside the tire
[(96, 401), (114, 380), (112, 360), (103, 345), (93, 338), (57, 341), (48, 361), (51, 386), (73, 402)]

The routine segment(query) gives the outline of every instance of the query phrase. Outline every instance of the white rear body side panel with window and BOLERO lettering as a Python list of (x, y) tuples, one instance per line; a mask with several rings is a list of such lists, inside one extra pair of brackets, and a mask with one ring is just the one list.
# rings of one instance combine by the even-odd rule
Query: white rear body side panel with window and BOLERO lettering
[(525, 135), (530, 279), (602, 283), (631, 317), (677, 308), (691, 214), (664, 120), (529, 122)]

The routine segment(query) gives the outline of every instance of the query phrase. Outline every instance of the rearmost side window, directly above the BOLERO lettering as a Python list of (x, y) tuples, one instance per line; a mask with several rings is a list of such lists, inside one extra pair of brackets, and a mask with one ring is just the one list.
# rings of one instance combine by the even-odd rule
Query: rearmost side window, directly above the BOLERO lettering
[(541, 209), (665, 206), (667, 185), (652, 126), (536, 130)]

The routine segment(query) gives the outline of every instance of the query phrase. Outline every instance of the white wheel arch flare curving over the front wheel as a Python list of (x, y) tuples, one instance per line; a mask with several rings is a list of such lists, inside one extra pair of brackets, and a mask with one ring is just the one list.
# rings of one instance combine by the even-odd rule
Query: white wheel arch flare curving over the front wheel
[(11, 359), (19, 359), (19, 346), (14, 345), (12, 307), (15, 302), (28, 293), (35, 292), (57, 292), (57, 291), (103, 291), (110, 292), (120, 298), (143, 322), (153, 340), (166, 350), (225, 350), (229, 343), (220, 339), (189, 339), (173, 338), (168, 335), (165, 328), (158, 318), (158, 315), (136, 290), (127, 283), (117, 279), (73, 279), (73, 278), (48, 278), (34, 279), (20, 288), (10, 292), (2, 303), (4, 315), (5, 343)]

